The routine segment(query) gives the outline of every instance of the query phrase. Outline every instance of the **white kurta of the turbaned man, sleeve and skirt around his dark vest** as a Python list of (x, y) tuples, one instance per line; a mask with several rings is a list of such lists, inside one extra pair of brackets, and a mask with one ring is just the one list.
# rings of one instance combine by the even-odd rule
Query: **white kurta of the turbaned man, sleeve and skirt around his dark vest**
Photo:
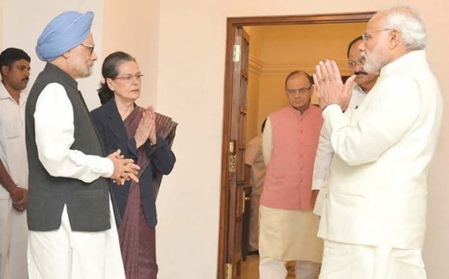
[[(34, 121), (39, 160), (50, 175), (80, 179), (83, 182), (112, 175), (114, 165), (109, 158), (69, 149), (74, 142), (74, 114), (67, 93), (60, 84), (50, 83), (42, 90), (36, 102)], [(72, 231), (66, 207), (62, 213), (60, 229), (30, 231), (30, 277), (125, 278), (110, 198), (109, 207), (111, 229), (107, 231)]]

